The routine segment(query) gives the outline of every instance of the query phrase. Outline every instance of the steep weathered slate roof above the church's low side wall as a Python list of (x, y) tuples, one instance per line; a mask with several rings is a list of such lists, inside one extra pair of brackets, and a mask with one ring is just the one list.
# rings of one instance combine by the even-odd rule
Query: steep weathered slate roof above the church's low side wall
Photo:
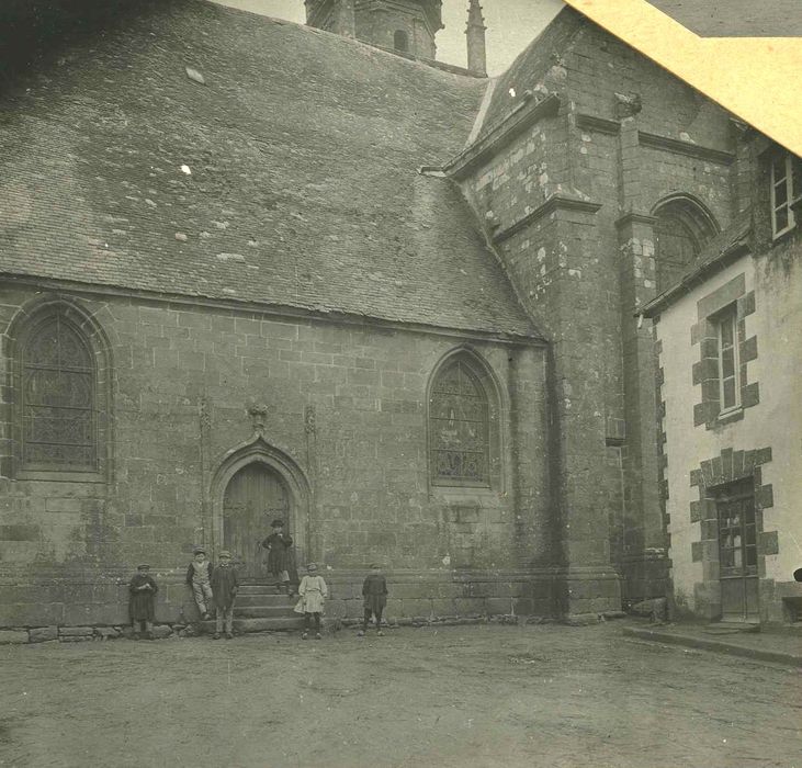
[(204, 0), (122, 27), (0, 98), (0, 273), (536, 335), (417, 172), (484, 82)]

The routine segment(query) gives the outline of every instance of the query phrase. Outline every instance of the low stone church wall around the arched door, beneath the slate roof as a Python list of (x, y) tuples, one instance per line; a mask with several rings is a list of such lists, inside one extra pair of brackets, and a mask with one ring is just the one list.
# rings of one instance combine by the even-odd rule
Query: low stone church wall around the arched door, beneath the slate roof
[[(127, 581), (138, 562), (170, 572), (185, 567), (195, 544), (223, 546), (226, 483), (251, 460), (285, 473), (298, 563), (339, 571), (377, 560), (434, 579), (453, 568), (553, 563), (542, 347), (7, 284), (0, 305), (11, 337), (50, 301), (103, 328), (113, 368), (109, 466), (92, 477), (15, 472), (15, 391), (3, 389), (0, 577), (13, 600), (0, 625), (120, 621), (116, 579)], [(450, 354), (484, 371), (489, 487), (430, 483), (427, 392)], [(269, 532), (262, 517), (257, 543)], [(439, 594), (427, 589), (420, 599)]]

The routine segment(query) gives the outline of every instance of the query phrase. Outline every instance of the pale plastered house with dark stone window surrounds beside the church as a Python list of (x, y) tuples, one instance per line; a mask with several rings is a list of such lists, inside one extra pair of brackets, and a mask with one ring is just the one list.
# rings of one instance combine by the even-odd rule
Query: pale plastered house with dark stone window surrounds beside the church
[(678, 613), (799, 622), (802, 160), (743, 127), (738, 216), (646, 308)]

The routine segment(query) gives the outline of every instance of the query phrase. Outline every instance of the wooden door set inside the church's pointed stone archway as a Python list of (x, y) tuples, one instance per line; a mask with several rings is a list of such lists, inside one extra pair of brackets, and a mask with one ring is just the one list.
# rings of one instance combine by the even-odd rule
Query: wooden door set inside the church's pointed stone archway
[(223, 549), (231, 553), (242, 578), (264, 577), (262, 540), (275, 518), (290, 530), (290, 498), (281, 477), (253, 462), (231, 477), (223, 497)]

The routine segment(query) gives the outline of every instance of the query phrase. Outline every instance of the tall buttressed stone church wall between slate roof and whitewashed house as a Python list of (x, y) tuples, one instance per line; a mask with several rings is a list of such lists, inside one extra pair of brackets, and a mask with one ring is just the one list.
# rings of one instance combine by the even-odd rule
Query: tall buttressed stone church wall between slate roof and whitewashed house
[(487, 136), (454, 172), (554, 345), (556, 453), (578, 515), (563, 521), (567, 562), (603, 568), (612, 556), (624, 599), (660, 597), (656, 365), (651, 323), (635, 315), (657, 292), (660, 201), (687, 195), (730, 223), (734, 131), (718, 105), (589, 22), (535, 69), (520, 60), (505, 75), (506, 118), (498, 92)]

